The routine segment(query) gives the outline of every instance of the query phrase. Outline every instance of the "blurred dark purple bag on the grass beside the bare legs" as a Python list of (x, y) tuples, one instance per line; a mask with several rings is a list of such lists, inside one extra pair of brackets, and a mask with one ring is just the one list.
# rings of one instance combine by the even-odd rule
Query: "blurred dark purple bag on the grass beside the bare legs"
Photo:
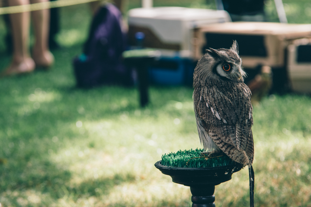
[(83, 54), (73, 60), (78, 87), (133, 85), (132, 70), (122, 63), (126, 33), (122, 31), (121, 20), (121, 12), (113, 4), (96, 12)]

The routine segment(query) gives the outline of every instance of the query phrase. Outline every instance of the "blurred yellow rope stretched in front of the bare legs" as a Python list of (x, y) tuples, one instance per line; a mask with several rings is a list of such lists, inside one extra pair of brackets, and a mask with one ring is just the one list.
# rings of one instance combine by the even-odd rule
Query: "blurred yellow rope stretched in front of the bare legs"
[(52, 2), (40, 2), (34, 4), (26, 4), (26, 5), (19, 5), (13, 7), (0, 7), (0, 15), (2, 14), (13, 14), (13, 13), (20, 13), (25, 11), (36, 11), (41, 9), (50, 9), (55, 7), (66, 7), (76, 4), (83, 4), (88, 2), (95, 2), (99, 0), (56, 0)]

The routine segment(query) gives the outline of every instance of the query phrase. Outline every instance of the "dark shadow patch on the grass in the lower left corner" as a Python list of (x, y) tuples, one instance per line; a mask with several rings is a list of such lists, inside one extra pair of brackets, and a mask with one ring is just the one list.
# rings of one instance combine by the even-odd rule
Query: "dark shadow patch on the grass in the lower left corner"
[(106, 178), (89, 178), (81, 183), (72, 184), (72, 174), (60, 169), (49, 161), (8, 162), (0, 165), (0, 194), (4, 191), (25, 191), (35, 189), (49, 193), (52, 199), (70, 196), (77, 200), (81, 196), (101, 196), (123, 182), (133, 182), (132, 174), (115, 174)]

